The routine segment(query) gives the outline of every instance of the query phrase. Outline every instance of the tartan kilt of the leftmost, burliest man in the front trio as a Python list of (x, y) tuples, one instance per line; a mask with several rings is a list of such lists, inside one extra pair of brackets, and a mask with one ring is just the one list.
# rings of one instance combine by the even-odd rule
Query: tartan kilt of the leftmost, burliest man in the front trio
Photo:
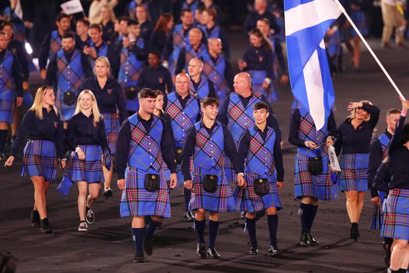
[(156, 215), (170, 217), (170, 202), (166, 180), (161, 172), (160, 190), (149, 192), (145, 188), (147, 174), (157, 174), (155, 171), (140, 170), (128, 166), (125, 171), (125, 190), (122, 192), (121, 217)]

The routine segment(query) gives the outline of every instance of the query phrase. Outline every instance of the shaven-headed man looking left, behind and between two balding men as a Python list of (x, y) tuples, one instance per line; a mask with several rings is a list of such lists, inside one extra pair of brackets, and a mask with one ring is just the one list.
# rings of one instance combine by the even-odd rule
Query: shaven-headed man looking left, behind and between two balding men
[(201, 75), (203, 71), (203, 62), (201, 59), (193, 58), (189, 61), (189, 76), (192, 84), (189, 87), (190, 94), (199, 100), (211, 97), (216, 98), (214, 83), (208, 77)]

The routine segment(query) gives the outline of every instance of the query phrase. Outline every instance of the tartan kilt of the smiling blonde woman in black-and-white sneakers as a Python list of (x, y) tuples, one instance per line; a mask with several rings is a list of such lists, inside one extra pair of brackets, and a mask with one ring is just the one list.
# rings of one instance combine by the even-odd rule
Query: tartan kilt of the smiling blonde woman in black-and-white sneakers
[(68, 163), (66, 176), (73, 182), (86, 181), (88, 184), (104, 182), (100, 146), (80, 145), (80, 148), (85, 154), (85, 160), (80, 160), (74, 152)]

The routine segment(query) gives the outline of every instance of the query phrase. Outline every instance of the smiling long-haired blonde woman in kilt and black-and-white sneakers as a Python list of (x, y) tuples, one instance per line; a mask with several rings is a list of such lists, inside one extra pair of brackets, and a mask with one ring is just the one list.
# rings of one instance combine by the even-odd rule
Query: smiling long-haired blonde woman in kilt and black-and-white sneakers
[[(99, 195), (100, 183), (104, 181), (102, 151), (109, 153), (105, 123), (92, 91), (84, 90), (78, 96), (74, 116), (68, 123), (65, 142), (71, 151), (74, 151), (66, 176), (71, 181), (78, 182), (78, 212), (80, 215), (78, 231), (86, 232), (87, 223), (94, 223), (95, 216), (91, 206)], [(89, 188), (88, 197), (86, 196), (87, 187)]]

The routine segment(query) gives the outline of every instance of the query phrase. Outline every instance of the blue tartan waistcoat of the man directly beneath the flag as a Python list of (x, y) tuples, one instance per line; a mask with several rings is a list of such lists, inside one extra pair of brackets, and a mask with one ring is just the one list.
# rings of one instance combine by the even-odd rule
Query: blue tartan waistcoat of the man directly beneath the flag
[[(315, 123), (312, 119), (310, 113), (307, 109), (303, 106), (299, 107), (301, 121), (300, 121), (300, 129), (298, 130), (298, 138), (303, 141), (312, 141), (315, 144), (321, 144), (327, 141), (328, 129), (327, 124), (319, 130), (315, 131)], [(309, 149), (304, 147), (297, 148), (299, 154), (303, 154), (308, 157), (326, 157), (328, 153), (327, 145), (320, 146), (317, 149)]]

